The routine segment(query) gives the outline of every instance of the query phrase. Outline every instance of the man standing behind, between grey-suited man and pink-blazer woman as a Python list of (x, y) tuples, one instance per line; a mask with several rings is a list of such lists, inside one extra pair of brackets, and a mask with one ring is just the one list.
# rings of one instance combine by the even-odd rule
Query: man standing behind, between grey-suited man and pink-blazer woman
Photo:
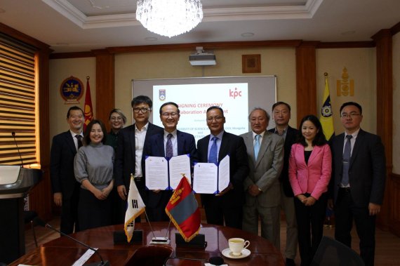
[(295, 204), (293, 201), (293, 190), (289, 182), (288, 168), (291, 148), (295, 142), (298, 130), (289, 126), (291, 119), (291, 106), (286, 102), (276, 102), (272, 105), (272, 115), (275, 121), (275, 128), (269, 132), (281, 135), (285, 140), (284, 144), (284, 168), (282, 168), (279, 181), (281, 182), (281, 208), (286, 217), (286, 265), (295, 265), (295, 256), (298, 249), (298, 225), (295, 216)]

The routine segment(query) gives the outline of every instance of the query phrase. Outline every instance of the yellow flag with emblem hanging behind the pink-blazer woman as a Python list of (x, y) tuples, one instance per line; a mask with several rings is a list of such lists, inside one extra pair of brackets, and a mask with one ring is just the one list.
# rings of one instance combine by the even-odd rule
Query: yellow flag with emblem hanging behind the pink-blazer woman
[(330, 140), (335, 135), (335, 129), (333, 128), (332, 105), (331, 96), (329, 95), (328, 73), (325, 72), (324, 75), (324, 102), (322, 104), (321, 117), (319, 117), (319, 121), (321, 122), (326, 140)]

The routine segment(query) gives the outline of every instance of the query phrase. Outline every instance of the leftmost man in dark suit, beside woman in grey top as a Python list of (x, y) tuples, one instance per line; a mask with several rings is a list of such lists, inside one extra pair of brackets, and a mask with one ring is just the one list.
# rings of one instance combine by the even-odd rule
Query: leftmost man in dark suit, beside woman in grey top
[(82, 145), (84, 111), (77, 106), (69, 108), (69, 131), (55, 135), (51, 145), (50, 177), (54, 203), (61, 206), (60, 230), (65, 234), (79, 231), (78, 201), (79, 182), (74, 175), (74, 158)]

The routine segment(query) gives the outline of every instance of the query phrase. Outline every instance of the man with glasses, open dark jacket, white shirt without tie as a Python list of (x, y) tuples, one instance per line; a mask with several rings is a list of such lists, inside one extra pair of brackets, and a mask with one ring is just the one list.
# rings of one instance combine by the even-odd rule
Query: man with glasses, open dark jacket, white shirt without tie
[[(163, 132), (163, 128), (149, 123), (153, 106), (149, 97), (145, 95), (137, 96), (133, 98), (131, 106), (135, 124), (119, 131), (115, 157), (114, 177), (116, 189), (123, 205), (119, 214), (119, 223), (123, 223), (125, 220), (126, 199), (131, 183), (131, 174), (134, 176), (136, 187), (138, 187), (140, 196), (146, 204), (147, 193), (145, 192), (145, 180), (142, 178), (143, 149), (151, 135)], [(136, 222), (139, 221), (140, 218), (137, 218)]]

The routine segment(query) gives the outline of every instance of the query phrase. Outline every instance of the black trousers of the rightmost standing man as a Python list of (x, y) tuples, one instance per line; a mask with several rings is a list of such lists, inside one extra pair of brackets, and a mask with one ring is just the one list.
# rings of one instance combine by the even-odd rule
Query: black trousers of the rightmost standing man
[(335, 239), (352, 247), (353, 220), (360, 239), (360, 255), (365, 265), (373, 265), (375, 259), (375, 219), (369, 215), (368, 204), (355, 206), (351, 189), (339, 189), (335, 202)]

